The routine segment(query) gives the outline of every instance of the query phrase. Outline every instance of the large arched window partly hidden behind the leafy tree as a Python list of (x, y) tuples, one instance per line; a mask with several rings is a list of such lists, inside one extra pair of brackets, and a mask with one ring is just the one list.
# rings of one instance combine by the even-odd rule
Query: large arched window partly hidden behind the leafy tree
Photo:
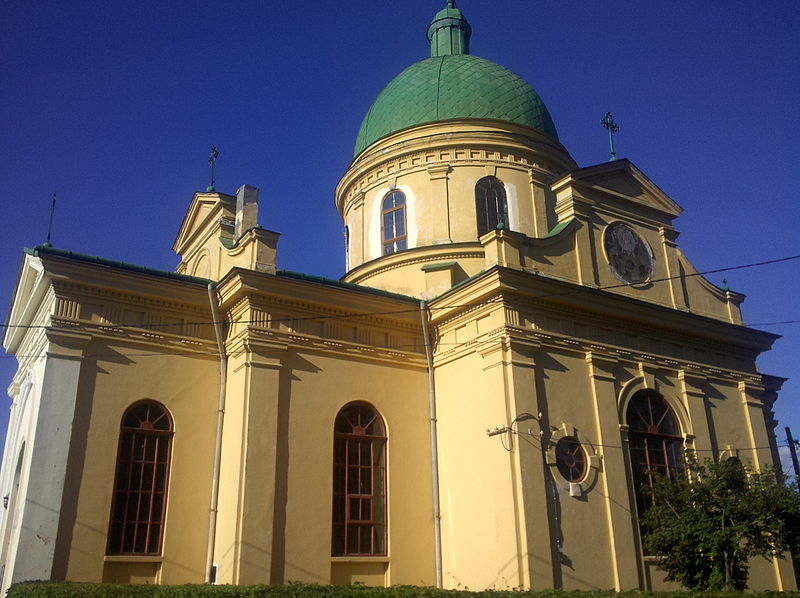
[(649, 506), (645, 489), (656, 476), (674, 479), (684, 473), (683, 436), (670, 406), (654, 390), (640, 390), (631, 398), (628, 423), (636, 505), (641, 515)]

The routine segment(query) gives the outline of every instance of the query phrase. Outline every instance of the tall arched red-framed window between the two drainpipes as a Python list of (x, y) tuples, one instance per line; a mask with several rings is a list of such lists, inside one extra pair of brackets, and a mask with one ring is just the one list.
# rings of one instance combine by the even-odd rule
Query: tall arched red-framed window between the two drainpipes
[(386, 427), (367, 403), (346, 405), (334, 424), (332, 553), (386, 554)]

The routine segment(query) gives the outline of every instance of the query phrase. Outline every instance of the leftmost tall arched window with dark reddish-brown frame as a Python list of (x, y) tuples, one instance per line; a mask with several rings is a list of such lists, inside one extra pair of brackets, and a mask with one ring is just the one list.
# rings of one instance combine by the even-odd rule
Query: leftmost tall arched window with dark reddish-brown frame
[(122, 416), (108, 554), (160, 554), (167, 506), (172, 418), (139, 401)]

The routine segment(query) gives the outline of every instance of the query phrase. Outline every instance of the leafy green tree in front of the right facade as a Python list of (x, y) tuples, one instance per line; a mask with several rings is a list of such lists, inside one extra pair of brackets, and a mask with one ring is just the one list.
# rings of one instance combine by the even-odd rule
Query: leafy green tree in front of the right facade
[(642, 517), (648, 554), (668, 579), (690, 590), (743, 590), (748, 560), (800, 550), (800, 493), (772, 469), (749, 471), (738, 459), (700, 463), (661, 478)]

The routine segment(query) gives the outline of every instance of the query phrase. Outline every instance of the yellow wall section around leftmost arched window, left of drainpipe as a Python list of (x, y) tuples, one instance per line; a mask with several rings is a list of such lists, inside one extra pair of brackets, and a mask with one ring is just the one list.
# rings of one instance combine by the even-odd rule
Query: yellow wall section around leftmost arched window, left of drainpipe
[[(155, 349), (152, 347), (151, 349)], [(77, 504), (67, 577), (85, 581), (146, 581), (145, 570), (158, 571), (161, 583), (202, 579), (208, 537), (208, 499), (214, 435), (216, 364), (213, 356), (144, 355), (141, 346), (93, 344), (83, 363), (80, 396), (85, 425), (81, 447), (71, 465), (79, 472)], [(163, 559), (105, 557), (111, 489), (125, 410), (151, 399), (172, 415), (174, 436)], [(78, 435), (80, 438), (82, 435)], [(133, 561), (139, 562), (133, 562)], [(105, 561), (105, 562), (104, 562)]]

